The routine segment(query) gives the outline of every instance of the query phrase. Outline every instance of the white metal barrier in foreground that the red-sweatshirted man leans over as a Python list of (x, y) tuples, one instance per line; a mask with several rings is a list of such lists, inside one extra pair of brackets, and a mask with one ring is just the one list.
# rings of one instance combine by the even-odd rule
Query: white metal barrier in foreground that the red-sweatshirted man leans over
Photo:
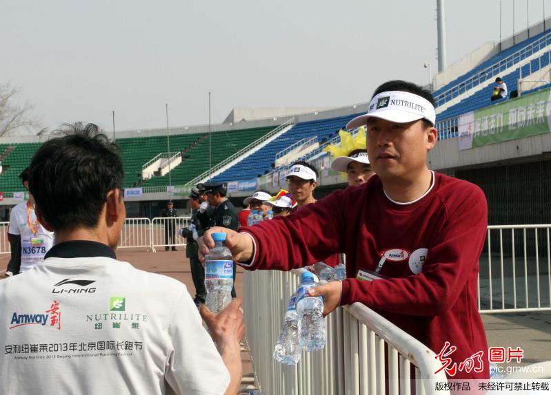
[[(272, 352), (299, 271), (245, 273), (247, 339), (263, 394), (380, 395), (387, 385), (389, 394), (411, 394), (414, 383), (415, 394), (421, 395), (436, 393), (433, 381), (447, 382), (443, 371), (434, 374), (441, 368), (434, 352), (361, 303), (337, 308), (325, 318), (328, 343), (323, 351), (303, 352), (294, 367), (274, 361)], [(422, 380), (410, 380), (411, 365), (414, 377)]]

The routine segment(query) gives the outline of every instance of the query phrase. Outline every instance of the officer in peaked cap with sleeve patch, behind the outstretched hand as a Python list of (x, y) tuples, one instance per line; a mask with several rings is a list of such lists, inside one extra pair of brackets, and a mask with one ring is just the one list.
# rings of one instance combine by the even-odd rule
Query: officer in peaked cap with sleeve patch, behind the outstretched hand
[[(237, 218), (237, 210), (234, 205), (226, 197), (228, 186), (226, 183), (206, 183), (204, 184), (205, 193), (207, 195), (208, 204), (214, 207), (208, 228), (214, 226), (223, 226), (224, 228), (237, 231), (239, 228), (239, 220)], [(235, 282), (235, 266), (233, 266), (233, 281)], [(235, 287), (232, 288), (232, 297), (236, 297)]]

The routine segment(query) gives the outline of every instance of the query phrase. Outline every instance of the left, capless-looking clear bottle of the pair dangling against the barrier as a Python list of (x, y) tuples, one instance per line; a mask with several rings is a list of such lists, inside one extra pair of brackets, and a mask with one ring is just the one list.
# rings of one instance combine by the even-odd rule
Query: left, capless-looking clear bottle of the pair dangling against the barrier
[(289, 306), (283, 319), (283, 327), (274, 348), (274, 359), (285, 365), (297, 365), (301, 359), (299, 338), (299, 314), (297, 314), (297, 294), (289, 299)]

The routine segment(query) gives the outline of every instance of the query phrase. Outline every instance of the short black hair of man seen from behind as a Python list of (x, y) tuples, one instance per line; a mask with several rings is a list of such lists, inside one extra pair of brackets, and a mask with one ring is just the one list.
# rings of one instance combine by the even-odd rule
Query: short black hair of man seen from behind
[(122, 188), (120, 150), (92, 123), (62, 131), (66, 136), (45, 142), (32, 157), (30, 193), (54, 231), (94, 228), (108, 192)]

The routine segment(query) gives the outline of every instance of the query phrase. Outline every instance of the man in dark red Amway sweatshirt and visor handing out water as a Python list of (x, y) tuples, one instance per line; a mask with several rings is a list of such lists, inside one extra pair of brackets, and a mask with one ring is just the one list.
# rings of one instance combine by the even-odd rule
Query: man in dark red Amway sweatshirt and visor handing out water
[[(366, 125), (377, 174), (289, 217), (229, 233), (226, 246), (249, 270), (290, 270), (345, 253), (348, 278), (310, 290), (323, 295), (325, 314), (361, 302), (436, 354), (450, 343), (440, 359), (450, 359), (448, 377), (485, 379), (477, 275), (488, 207), (478, 186), (428, 169), (427, 153), (437, 143), (433, 103), (412, 83), (381, 85), (368, 113), (347, 125)], [(201, 253), (213, 246), (207, 233)], [(381, 279), (365, 281), (372, 275)], [(461, 368), (467, 359), (474, 366)]]

